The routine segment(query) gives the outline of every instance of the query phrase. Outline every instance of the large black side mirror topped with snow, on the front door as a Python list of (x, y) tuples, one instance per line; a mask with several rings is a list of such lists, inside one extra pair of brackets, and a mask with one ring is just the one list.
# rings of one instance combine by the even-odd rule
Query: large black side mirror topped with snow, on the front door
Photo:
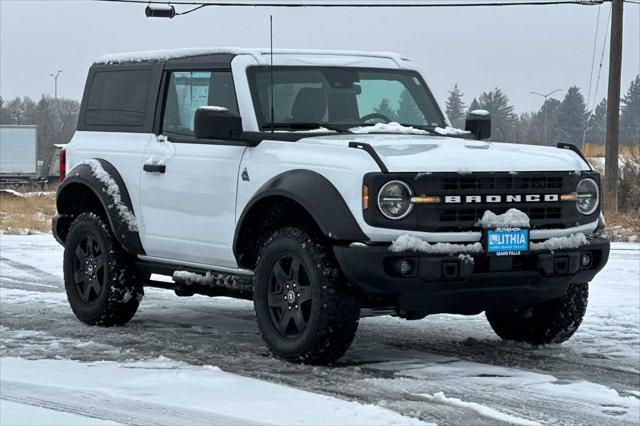
[(193, 123), (197, 139), (237, 139), (242, 133), (242, 118), (219, 106), (202, 106), (196, 110)]

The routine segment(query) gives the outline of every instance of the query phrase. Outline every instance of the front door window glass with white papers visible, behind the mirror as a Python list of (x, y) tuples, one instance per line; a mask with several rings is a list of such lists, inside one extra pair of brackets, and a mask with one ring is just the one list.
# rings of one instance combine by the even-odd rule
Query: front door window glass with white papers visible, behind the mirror
[(172, 72), (164, 102), (162, 133), (193, 136), (196, 110), (206, 105), (238, 113), (231, 72)]

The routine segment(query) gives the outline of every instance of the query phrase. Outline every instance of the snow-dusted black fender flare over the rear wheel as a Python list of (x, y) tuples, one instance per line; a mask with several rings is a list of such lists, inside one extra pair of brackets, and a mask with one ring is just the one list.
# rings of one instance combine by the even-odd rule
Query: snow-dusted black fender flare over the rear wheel
[[(108, 176), (97, 176), (93, 161), (97, 162)], [(103, 159), (92, 159), (78, 164), (67, 173), (65, 180), (58, 188), (56, 193), (58, 215), (53, 224), (56, 239), (62, 241), (60, 224), (70, 225), (71, 219), (81, 213), (78, 211), (78, 206), (83, 205), (84, 200), (78, 199), (82, 196), (82, 193), (77, 191), (78, 185), (88, 188), (100, 200), (111, 230), (122, 247), (132, 255), (145, 254), (127, 186), (117, 169)]]

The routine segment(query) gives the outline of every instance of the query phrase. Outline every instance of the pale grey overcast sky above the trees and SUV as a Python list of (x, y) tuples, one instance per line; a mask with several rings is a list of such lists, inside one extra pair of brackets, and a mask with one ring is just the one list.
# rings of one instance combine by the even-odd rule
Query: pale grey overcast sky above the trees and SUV
[[(80, 99), (99, 55), (134, 50), (275, 46), (400, 52), (424, 72), (438, 99), (458, 83), (467, 104), (502, 88), (518, 112), (537, 109), (548, 92), (573, 84), (585, 95), (598, 6), (469, 9), (205, 8), (168, 19), (147, 19), (144, 5), (91, 1), (0, 0), (0, 95), (53, 95), (49, 76), (63, 70), (59, 96)], [(623, 92), (640, 73), (640, 7), (625, 5)], [(610, 6), (600, 8), (602, 36)], [(608, 48), (598, 98), (606, 94)], [(593, 89), (595, 90), (595, 75)], [(557, 95), (563, 96), (563, 93)]]

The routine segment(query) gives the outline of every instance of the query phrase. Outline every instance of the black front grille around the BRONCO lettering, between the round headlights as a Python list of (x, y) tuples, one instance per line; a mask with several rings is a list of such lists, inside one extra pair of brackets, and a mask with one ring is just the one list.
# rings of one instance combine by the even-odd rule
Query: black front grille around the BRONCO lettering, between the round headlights
[[(478, 231), (478, 221), (491, 210), (503, 214), (511, 208), (525, 212), (531, 219), (532, 229), (562, 229), (591, 223), (598, 219), (599, 211), (591, 216), (578, 213), (573, 201), (526, 202), (526, 195), (562, 195), (576, 190), (580, 179), (591, 177), (600, 182), (595, 172), (531, 172), (531, 173), (370, 173), (365, 184), (377, 194), (386, 182), (399, 179), (413, 188), (416, 195), (439, 196), (440, 204), (418, 204), (411, 214), (400, 221), (385, 218), (374, 205), (364, 212), (365, 221), (376, 227), (406, 229), (423, 232)], [(447, 196), (464, 200), (467, 196), (520, 195), (522, 202), (460, 202), (446, 203)], [(475, 200), (474, 200), (475, 201)]]

